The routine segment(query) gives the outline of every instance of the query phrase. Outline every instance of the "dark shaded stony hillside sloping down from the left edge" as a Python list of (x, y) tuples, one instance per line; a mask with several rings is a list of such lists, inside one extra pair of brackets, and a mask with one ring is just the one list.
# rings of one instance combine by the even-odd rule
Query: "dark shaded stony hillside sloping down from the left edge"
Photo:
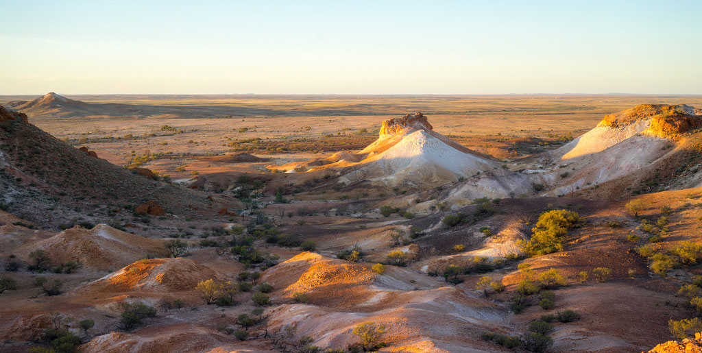
[(2, 107), (0, 117), (0, 203), (14, 215), (58, 227), (90, 220), (83, 210), (99, 222), (131, 214), (125, 205), (150, 200), (166, 211), (211, 206), (201, 192), (136, 175), (67, 145), (27, 123), (25, 114)]

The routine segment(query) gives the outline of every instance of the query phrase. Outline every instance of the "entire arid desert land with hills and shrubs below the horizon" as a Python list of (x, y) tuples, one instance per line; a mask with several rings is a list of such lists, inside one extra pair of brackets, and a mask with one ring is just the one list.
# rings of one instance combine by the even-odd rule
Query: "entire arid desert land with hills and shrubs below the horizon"
[(4, 352), (701, 349), (702, 96), (0, 105)]

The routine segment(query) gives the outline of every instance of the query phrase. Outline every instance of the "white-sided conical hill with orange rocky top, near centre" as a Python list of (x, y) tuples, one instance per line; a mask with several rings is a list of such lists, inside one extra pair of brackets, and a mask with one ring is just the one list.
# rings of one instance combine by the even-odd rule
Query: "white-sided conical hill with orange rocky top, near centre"
[(479, 154), (432, 131), (421, 113), (383, 121), (378, 140), (358, 153), (338, 152), (326, 159), (270, 166), (289, 173), (352, 167), (340, 182), (370, 181), (379, 185), (444, 185), (498, 166)]

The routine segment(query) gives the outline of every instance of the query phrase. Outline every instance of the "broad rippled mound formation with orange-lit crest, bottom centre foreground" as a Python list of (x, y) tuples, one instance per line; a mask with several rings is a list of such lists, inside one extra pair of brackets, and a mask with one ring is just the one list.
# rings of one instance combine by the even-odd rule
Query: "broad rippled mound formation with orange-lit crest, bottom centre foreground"
[(309, 299), (273, 308), (272, 331), (297, 323), (296, 335), (311, 335), (314, 345), (346, 347), (356, 342), (353, 326), (373, 321), (385, 325), (393, 352), (465, 352), (489, 349), (480, 333), (507, 325), (505, 310), (473, 293), (402, 267), (376, 274), (371, 265), (301, 253), (272, 267), (262, 281), (274, 284), (275, 295)]

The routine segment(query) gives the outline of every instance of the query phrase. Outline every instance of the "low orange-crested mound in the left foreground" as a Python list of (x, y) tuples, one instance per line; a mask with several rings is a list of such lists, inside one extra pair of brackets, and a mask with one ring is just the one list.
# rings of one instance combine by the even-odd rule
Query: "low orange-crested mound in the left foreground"
[(188, 258), (138, 260), (88, 284), (88, 291), (192, 291), (200, 281), (216, 279), (209, 267)]

